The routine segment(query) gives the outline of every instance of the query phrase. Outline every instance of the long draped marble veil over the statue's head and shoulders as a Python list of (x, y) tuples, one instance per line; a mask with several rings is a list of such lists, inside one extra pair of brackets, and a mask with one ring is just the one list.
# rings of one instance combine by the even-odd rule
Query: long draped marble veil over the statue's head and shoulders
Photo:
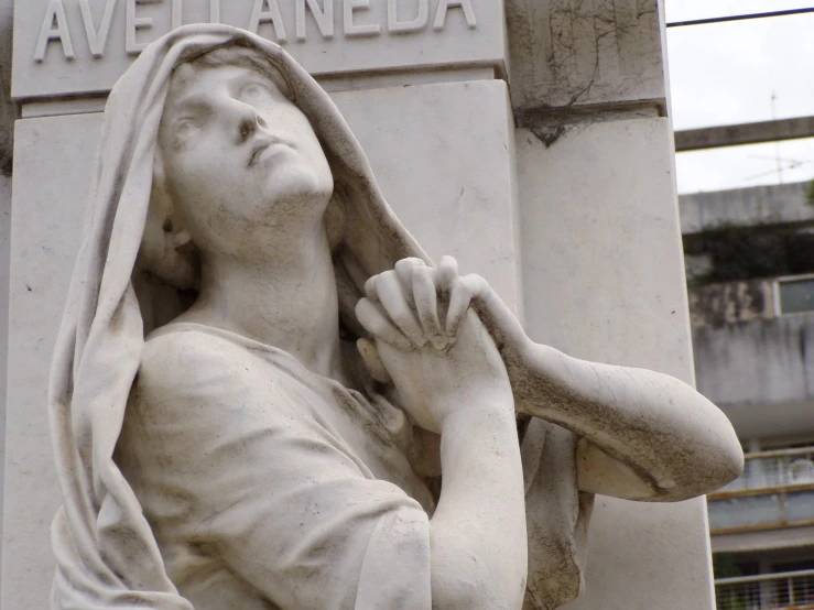
[[(142, 295), (137, 297), (133, 270), (170, 78), (177, 65), (225, 45), (253, 48), (282, 74), (332, 164), (335, 197), (344, 209), (341, 255), (335, 261), (337, 276), (345, 279), (343, 324), (359, 328), (354, 304), (369, 276), (405, 257), (432, 263), (387, 205), (328, 95), (276, 44), (226, 25), (188, 25), (150, 45), (116, 85), (105, 110), (83, 244), (52, 363), (48, 402), (63, 498), (52, 525), (54, 608), (192, 609), (166, 576), (113, 453), (145, 326), (154, 324)], [(574, 444), (571, 433), (539, 420), (523, 443), (529, 608), (554, 608), (582, 586), (577, 547), (584, 546), (589, 498), (576, 489)]]

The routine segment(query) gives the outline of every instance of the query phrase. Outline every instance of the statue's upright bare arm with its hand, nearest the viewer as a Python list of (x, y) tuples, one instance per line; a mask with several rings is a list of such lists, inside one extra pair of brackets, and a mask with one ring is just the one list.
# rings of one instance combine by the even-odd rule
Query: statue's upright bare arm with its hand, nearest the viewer
[(357, 316), (402, 406), (441, 434), (444, 486), (430, 521), (433, 608), (520, 608), (528, 574), (524, 487), (506, 367), (471, 312), (448, 349), (399, 341), (387, 322), (388, 312), (409, 307), (397, 284), (381, 277), (387, 305), (362, 299)]

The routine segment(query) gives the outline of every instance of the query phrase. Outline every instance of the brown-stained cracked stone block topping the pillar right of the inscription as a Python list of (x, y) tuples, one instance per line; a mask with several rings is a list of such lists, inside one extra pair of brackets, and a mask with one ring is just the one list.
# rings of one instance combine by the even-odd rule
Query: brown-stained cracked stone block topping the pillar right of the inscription
[(659, 0), (506, 4), (518, 110), (641, 101), (666, 106)]

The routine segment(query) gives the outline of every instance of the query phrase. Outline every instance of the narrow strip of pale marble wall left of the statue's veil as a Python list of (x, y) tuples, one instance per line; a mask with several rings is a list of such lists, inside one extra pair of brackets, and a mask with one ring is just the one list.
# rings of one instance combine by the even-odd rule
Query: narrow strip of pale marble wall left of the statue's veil
[(48, 529), (61, 500), (48, 434), (47, 362), (82, 239), (99, 127), (96, 116), (17, 123), (2, 608), (48, 603)]

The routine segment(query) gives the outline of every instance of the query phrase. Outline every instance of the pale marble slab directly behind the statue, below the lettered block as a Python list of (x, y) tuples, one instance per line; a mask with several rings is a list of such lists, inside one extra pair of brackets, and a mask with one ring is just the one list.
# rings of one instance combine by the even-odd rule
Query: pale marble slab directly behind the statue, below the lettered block
[[(382, 192), (410, 230), (433, 255), (451, 253), (463, 270), (478, 269), (507, 303), (517, 306), (513, 166), (506, 154), (513, 145), (513, 131), (506, 86), (500, 81), (424, 85), (348, 91), (334, 98), (369, 152)], [(422, 109), (421, 120), (405, 120), (416, 108)], [(493, 127), (484, 129), (487, 123)], [(39, 270), (40, 280), (35, 294), (26, 290), (12, 294), (12, 308), (22, 316), (11, 328), (11, 349), (18, 355), (14, 372), (25, 377), (10, 388), (9, 425), (14, 433), (9, 444), (8, 489), (15, 508), (7, 514), (4, 549), (17, 559), (4, 565), (10, 585), (2, 591), (3, 608), (47, 606), (53, 575), (48, 524), (59, 502), (44, 409), (47, 355), (78, 247), (100, 126), (100, 115), (79, 115), (30, 119), (18, 127), (14, 230), (20, 239), (12, 259), (20, 280), (32, 270)], [(393, 139), (410, 145), (388, 145)], [(475, 168), (473, 175), (466, 165)], [(47, 181), (42, 179), (43, 167), (48, 168)], [(416, 175), (422, 176), (420, 182)], [(433, 206), (437, 222), (426, 222), (420, 213), (426, 204), (416, 200), (439, 201)], [(40, 218), (53, 221), (43, 225)], [(488, 248), (481, 250), (462, 239), (467, 232), (481, 236)], [(20, 464), (29, 466), (18, 468)], [(42, 484), (34, 484), (30, 470)], [(26, 535), (9, 534), (15, 531)]]

